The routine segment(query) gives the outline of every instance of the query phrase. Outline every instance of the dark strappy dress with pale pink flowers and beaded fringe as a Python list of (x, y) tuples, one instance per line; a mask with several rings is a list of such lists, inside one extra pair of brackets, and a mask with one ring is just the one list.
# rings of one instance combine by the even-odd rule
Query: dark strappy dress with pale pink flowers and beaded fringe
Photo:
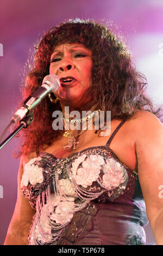
[(36, 210), (29, 245), (145, 245), (148, 223), (137, 168), (109, 147), (66, 158), (42, 152), (24, 166), (22, 193)]

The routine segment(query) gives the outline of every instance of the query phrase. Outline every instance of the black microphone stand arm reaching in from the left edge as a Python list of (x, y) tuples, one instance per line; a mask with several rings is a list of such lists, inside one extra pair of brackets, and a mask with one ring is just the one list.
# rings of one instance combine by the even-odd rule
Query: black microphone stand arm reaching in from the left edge
[(14, 132), (12, 132), (1, 144), (0, 144), (0, 150), (4, 145), (6, 145), (22, 128), (27, 128), (30, 123), (33, 121), (33, 112), (29, 112), (27, 116), (25, 116), (20, 121), (20, 126), (18, 126)]

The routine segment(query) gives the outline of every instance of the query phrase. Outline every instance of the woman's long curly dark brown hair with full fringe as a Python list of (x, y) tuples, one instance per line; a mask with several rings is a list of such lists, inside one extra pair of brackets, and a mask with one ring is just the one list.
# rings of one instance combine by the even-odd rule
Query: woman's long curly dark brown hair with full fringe
[[(136, 71), (126, 45), (108, 26), (90, 20), (68, 20), (45, 33), (35, 46), (34, 64), (27, 74), (24, 98), (41, 86), (43, 78), (49, 74), (54, 47), (64, 43), (82, 43), (92, 51), (92, 93), (97, 108), (110, 110), (111, 119), (130, 118), (135, 110), (142, 109), (159, 115), (159, 110), (154, 111), (152, 101), (145, 94), (146, 78)], [(52, 105), (48, 97), (34, 110), (33, 123), (22, 130), (21, 153), (29, 154), (41, 145), (50, 145), (62, 133), (52, 128), (54, 110), (61, 110), (60, 104)]]

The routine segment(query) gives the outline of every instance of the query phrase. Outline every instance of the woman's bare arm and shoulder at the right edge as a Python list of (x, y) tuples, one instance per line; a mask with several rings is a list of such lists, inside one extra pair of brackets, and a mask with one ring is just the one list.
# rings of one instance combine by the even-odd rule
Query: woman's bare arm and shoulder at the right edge
[(163, 126), (153, 114), (138, 114), (136, 154), (139, 181), (156, 245), (163, 245)]

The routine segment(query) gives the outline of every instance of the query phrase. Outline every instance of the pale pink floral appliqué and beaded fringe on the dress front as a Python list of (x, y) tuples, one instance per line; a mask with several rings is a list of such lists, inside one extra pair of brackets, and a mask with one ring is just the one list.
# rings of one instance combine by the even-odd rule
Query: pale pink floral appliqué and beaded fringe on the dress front
[(59, 159), (44, 152), (30, 160), (21, 182), (24, 196), (36, 209), (30, 245), (55, 245), (75, 213), (87, 209), (92, 200), (120, 197), (134, 180), (106, 148)]

